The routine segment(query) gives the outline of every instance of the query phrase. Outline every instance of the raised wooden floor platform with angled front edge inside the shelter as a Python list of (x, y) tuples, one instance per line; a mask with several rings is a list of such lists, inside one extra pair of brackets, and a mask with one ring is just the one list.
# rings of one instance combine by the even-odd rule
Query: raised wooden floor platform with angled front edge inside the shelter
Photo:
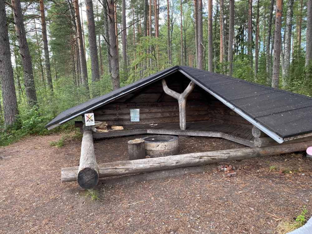
[(93, 138), (105, 138), (113, 136), (126, 136), (135, 134), (168, 134), (168, 135), (188, 135), (188, 136), (206, 136), (220, 137), (237, 142), (239, 144), (254, 146), (254, 137), (251, 128), (241, 127), (230, 124), (213, 123), (208, 120), (187, 122), (186, 130), (181, 130), (179, 123), (164, 124), (141, 124), (126, 125), (123, 130), (114, 130), (109, 132), (94, 132)]

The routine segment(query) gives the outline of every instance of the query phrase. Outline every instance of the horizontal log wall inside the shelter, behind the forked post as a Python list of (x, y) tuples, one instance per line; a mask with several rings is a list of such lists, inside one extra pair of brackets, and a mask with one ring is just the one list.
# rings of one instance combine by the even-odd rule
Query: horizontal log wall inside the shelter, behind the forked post
[[(179, 93), (190, 82), (186, 77), (170, 77), (166, 80), (168, 87)], [(140, 109), (139, 122), (130, 121), (130, 109)], [(94, 110), (94, 114), (96, 121), (106, 121), (108, 125), (179, 122), (178, 101), (163, 92), (161, 80)], [(248, 121), (199, 86), (188, 96), (186, 120), (210, 120), (252, 128)]]

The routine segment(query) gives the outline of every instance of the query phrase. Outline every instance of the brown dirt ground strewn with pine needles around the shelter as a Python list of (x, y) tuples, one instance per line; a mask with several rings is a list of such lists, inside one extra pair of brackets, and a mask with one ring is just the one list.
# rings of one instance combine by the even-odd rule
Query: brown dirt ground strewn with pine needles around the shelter
[[(126, 160), (129, 136), (95, 141), (99, 163)], [(141, 136), (142, 137), (142, 136)], [(77, 166), (80, 141), (32, 136), (0, 148), (0, 233), (275, 233), (306, 205), (312, 214), (312, 160), (286, 154), (228, 162), (235, 178), (205, 172), (96, 188), (92, 202), (60, 169)], [(180, 153), (244, 147), (225, 139), (180, 139)], [(274, 170), (270, 171), (273, 166)], [(284, 172), (284, 173), (283, 173)]]

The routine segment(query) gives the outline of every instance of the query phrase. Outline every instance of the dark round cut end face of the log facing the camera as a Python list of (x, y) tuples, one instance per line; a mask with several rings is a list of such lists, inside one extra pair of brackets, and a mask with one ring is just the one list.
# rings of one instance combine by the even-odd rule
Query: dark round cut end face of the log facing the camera
[(83, 168), (77, 175), (77, 183), (81, 188), (94, 188), (99, 181), (99, 174), (94, 168)]

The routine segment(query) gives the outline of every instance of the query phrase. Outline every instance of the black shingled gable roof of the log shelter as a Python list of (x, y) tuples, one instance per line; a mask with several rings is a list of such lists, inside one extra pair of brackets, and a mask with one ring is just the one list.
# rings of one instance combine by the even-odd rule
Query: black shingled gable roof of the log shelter
[(177, 70), (185, 72), (197, 85), (221, 96), (235, 108), (242, 110), (247, 116), (281, 138), (312, 132), (312, 98), (186, 66), (174, 66), (65, 110), (48, 123), (46, 128), (58, 124), (64, 119), (74, 118), (75, 115), (97, 104), (118, 97), (136, 87), (148, 85), (152, 81), (162, 79), (164, 74)]

